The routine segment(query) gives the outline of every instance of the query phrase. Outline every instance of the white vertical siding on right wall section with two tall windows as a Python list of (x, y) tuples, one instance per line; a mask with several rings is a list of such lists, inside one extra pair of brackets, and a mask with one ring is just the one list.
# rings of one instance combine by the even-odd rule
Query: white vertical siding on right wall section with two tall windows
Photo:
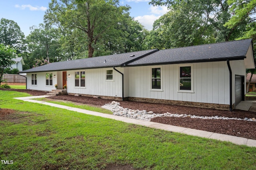
[[(237, 61), (232, 62), (232, 67)], [(179, 91), (179, 67), (191, 66), (192, 90)], [(151, 68), (161, 68), (162, 90), (151, 89)], [(137, 66), (128, 69), (128, 96), (187, 102), (229, 104), (229, 70), (226, 61)]]

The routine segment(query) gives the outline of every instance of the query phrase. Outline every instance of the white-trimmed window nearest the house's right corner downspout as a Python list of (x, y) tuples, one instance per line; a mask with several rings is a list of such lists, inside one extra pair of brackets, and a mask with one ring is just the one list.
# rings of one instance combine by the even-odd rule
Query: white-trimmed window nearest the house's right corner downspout
[(180, 66), (180, 86), (179, 90), (192, 90), (191, 66)]

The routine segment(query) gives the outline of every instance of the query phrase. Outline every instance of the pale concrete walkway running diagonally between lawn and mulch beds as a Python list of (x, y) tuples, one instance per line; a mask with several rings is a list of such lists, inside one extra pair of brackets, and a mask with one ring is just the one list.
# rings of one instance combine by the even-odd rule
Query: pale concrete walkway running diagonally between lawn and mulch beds
[(14, 98), (14, 99), (23, 100), (23, 101), (26, 101), (26, 102), (44, 104), (44, 105), (48, 105), (48, 106), (67, 109), (67, 110), (70, 110), (70, 111), (77, 111), (79, 113), (105, 117), (105, 118), (114, 119), (114, 120), (117, 120), (117, 121), (123, 121), (123, 122), (126, 122), (126, 123), (142, 125), (142, 126), (161, 129), (161, 130), (165, 130), (165, 131), (178, 132), (178, 133), (183, 133), (183, 134), (186, 134), (186, 135), (204, 137), (204, 138), (208, 138), (208, 139), (216, 139), (216, 140), (219, 140), (219, 141), (228, 141), (228, 142), (234, 143), (236, 145), (247, 145), (249, 147), (256, 147), (256, 140), (252, 140), (252, 139), (246, 139), (246, 138), (235, 137), (235, 136), (230, 136), (230, 135), (223, 135), (223, 134), (219, 134), (219, 133), (201, 131), (201, 130), (190, 129), (190, 128), (185, 128), (185, 127), (166, 125), (166, 124), (155, 123), (155, 122), (151, 122), (151, 121), (131, 119), (131, 118), (127, 118), (127, 117), (121, 117), (121, 116), (116, 116), (116, 115), (99, 113), (99, 112), (96, 112), (96, 111), (89, 111), (89, 110), (79, 109), (79, 108), (75, 108), (75, 107), (69, 107), (69, 106), (63, 106), (63, 105), (59, 105), (59, 104), (52, 104), (52, 103), (48, 103), (48, 102), (42, 102), (42, 101), (38, 101), (38, 100), (32, 100), (33, 98), (45, 98), (45, 97), (48, 97), (48, 96), (30, 96), (30, 97), (22, 97), (22, 98)]

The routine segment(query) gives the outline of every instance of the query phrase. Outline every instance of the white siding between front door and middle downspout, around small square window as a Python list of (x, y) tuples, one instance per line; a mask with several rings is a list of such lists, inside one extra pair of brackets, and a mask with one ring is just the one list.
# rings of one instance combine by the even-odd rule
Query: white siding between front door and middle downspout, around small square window
[[(116, 68), (123, 72), (123, 68)], [(106, 80), (106, 70), (113, 70), (113, 80)], [(75, 86), (75, 72), (85, 71), (85, 87)], [(122, 97), (122, 75), (113, 68), (68, 70), (67, 92), (95, 96)]]

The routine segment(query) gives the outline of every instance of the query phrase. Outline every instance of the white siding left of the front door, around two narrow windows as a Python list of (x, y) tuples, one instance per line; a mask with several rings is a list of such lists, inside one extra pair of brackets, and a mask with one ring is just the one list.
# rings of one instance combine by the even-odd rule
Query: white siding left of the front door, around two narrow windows
[[(46, 86), (46, 73), (52, 73), (52, 85)], [(32, 74), (36, 74), (36, 85), (32, 85)], [(35, 72), (27, 73), (27, 89), (51, 91), (55, 89), (54, 85), (57, 84), (57, 72)]]

